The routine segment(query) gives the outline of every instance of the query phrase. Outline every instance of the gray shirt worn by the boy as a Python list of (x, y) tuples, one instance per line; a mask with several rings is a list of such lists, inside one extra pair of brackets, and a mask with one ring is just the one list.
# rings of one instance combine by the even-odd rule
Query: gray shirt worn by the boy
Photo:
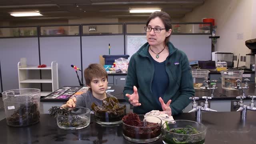
[[(107, 97), (112, 96), (111, 94), (106, 93)], [(114, 97), (114, 96), (112, 96)], [(78, 107), (84, 107), (84, 108), (89, 108), (90, 110), (92, 110), (92, 103), (95, 103), (97, 106), (102, 105), (102, 100), (99, 100), (97, 98), (95, 98), (92, 95), (92, 92), (90, 90), (88, 90), (88, 92), (85, 92), (79, 96), (76, 96), (76, 106)]]

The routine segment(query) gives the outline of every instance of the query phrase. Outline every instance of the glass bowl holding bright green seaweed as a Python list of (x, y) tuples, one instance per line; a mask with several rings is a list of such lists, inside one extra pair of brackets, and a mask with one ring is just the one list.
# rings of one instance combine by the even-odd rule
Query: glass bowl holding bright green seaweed
[[(190, 120), (174, 120), (167, 124), (169, 126), (169, 130), (166, 123), (162, 124), (162, 137), (164, 144), (204, 144), (207, 128), (203, 124)], [(182, 133), (181, 130), (183, 132), (185, 130), (186, 134)], [(179, 134), (176, 132), (179, 132)]]

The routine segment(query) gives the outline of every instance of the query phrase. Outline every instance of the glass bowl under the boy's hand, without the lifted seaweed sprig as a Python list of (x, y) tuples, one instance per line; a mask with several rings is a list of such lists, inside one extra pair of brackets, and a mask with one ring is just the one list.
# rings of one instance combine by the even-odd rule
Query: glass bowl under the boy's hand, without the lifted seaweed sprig
[(90, 124), (90, 109), (76, 107), (71, 110), (73, 116), (57, 115), (57, 124), (59, 128), (65, 130), (78, 130), (85, 128)]

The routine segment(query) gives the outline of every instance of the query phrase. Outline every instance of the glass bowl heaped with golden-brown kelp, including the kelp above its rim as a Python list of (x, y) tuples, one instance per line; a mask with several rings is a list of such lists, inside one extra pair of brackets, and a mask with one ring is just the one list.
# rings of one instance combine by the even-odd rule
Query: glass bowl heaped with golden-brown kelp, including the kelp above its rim
[(102, 100), (102, 106), (92, 103), (96, 123), (101, 125), (116, 125), (122, 123), (126, 114), (126, 105), (119, 104), (117, 98), (108, 97)]

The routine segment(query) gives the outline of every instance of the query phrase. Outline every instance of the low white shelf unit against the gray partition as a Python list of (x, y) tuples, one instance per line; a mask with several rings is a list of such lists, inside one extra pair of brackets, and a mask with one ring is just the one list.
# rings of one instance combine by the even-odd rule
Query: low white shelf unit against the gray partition
[[(51, 79), (28, 79), (28, 70), (51, 70)], [(19, 88), (29, 88), (29, 83), (51, 83), (52, 92), (59, 89), (58, 80), (58, 63), (53, 61), (51, 66), (46, 68), (38, 68), (36, 66), (28, 66), (26, 68), (21, 68), (20, 62), (18, 62), (18, 78), (19, 78)], [(52, 92), (41, 92), (41, 96), (47, 96)]]

